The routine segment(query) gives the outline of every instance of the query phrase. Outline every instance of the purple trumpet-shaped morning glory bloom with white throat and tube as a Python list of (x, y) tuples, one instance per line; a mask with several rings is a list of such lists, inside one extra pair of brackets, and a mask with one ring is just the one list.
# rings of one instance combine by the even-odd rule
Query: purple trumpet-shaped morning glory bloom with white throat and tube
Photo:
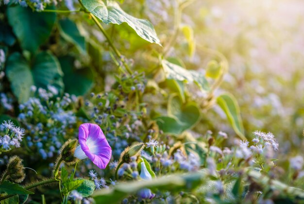
[(112, 149), (96, 124), (84, 123), (79, 126), (78, 139), (80, 145), (76, 148), (74, 156), (78, 159), (89, 158), (100, 169), (108, 165)]

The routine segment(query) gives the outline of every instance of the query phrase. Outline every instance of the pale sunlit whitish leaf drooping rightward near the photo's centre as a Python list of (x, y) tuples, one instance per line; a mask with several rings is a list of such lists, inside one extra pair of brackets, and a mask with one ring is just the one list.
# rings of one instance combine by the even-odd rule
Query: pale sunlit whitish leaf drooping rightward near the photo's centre
[(167, 60), (162, 60), (162, 65), (167, 79), (174, 79), (186, 83), (195, 83), (202, 91), (209, 91), (209, 85), (205, 76), (195, 70), (187, 70)]

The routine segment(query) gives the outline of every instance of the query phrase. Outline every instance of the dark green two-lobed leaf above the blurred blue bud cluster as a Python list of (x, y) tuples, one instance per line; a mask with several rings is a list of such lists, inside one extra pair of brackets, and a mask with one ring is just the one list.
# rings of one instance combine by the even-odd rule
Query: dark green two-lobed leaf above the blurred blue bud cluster
[(42, 88), (54, 85), (59, 91), (63, 90), (63, 73), (55, 56), (49, 52), (40, 52), (31, 65), (18, 52), (14, 52), (7, 60), (6, 75), (19, 102), (29, 99), (32, 85)]

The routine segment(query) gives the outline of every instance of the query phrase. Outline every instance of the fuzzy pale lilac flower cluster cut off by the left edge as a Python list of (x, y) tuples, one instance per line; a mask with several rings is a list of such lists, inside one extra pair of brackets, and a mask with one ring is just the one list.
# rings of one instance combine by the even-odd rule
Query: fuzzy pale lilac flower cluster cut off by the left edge
[(20, 147), (24, 136), (24, 129), (17, 127), (11, 120), (6, 120), (0, 125), (3, 134), (0, 136), (0, 153)]

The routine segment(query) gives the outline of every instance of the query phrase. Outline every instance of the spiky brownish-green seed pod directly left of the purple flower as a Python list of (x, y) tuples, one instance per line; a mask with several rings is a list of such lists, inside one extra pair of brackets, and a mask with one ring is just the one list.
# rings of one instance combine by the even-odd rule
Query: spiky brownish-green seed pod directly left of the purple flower
[(75, 164), (77, 161), (77, 158), (74, 157), (74, 152), (77, 146), (77, 139), (74, 140), (68, 140), (61, 148), (60, 156), (62, 158), (62, 161), (64, 161), (67, 165)]

